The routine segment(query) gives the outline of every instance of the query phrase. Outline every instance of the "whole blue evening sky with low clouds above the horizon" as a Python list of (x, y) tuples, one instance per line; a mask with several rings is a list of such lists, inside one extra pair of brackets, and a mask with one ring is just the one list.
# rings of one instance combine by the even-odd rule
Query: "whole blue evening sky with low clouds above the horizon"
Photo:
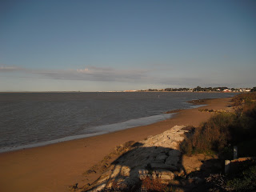
[(256, 1), (1, 0), (0, 91), (256, 86)]

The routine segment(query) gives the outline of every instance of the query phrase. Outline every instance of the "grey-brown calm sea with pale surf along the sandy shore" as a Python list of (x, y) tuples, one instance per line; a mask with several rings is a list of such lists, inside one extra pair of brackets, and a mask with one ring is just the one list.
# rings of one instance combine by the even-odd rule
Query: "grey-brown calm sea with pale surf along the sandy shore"
[(170, 118), (168, 110), (198, 98), (233, 93), (11, 93), (0, 94), (0, 152), (85, 138)]

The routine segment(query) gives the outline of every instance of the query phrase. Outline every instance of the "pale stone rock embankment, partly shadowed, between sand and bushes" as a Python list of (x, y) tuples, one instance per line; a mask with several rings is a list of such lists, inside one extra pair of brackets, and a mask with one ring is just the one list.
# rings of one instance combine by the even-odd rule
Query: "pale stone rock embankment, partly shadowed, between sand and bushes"
[[(184, 171), (178, 170), (181, 156), (178, 149), (187, 130), (182, 128), (184, 126), (174, 126), (162, 134), (150, 136), (131, 146), (132, 150), (120, 156), (110, 167), (106, 167), (101, 177), (90, 186), (93, 189), (91, 191), (108, 190), (113, 183), (132, 189), (133, 186), (137, 187), (140, 179), (146, 177), (160, 178), (162, 182), (169, 182), (175, 175), (183, 175)], [(116, 151), (128, 150), (131, 145), (128, 144), (118, 146)]]

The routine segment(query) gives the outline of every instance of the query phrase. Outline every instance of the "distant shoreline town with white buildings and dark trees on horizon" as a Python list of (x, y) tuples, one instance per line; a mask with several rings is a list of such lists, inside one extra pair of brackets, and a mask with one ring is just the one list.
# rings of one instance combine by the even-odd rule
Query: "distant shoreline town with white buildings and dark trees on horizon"
[(202, 91), (221, 91), (221, 92), (254, 92), (256, 91), (256, 86), (254, 88), (228, 88), (226, 86), (221, 87), (201, 87), (197, 86), (195, 88), (166, 88), (166, 89), (148, 89), (148, 90), (124, 90), (124, 92), (146, 92), (146, 91), (177, 91), (177, 92), (202, 92)]

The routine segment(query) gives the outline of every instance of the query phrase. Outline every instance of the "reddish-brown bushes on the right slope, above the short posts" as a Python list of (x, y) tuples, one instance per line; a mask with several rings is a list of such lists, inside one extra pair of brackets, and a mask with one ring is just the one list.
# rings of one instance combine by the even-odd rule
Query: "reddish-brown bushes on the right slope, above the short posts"
[[(185, 154), (222, 153), (228, 146), (256, 139), (256, 93), (233, 98), (234, 113), (215, 114), (194, 129), (182, 143)], [(240, 144), (241, 145), (241, 144)], [(246, 154), (245, 154), (246, 155)]]

